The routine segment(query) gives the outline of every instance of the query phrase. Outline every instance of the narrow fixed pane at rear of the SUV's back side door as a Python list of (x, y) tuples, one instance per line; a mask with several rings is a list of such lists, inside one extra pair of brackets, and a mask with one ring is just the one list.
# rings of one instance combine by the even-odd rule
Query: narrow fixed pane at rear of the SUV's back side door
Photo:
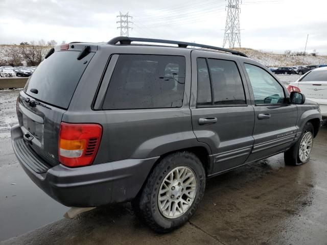
[(208, 67), (204, 58), (197, 58), (198, 95), (197, 105), (212, 105)]

